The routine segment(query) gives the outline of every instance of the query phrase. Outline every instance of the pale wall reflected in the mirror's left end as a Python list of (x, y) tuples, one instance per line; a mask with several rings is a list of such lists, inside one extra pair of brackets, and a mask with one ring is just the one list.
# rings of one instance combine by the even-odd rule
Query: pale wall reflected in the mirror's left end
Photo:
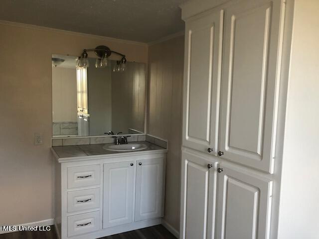
[(78, 121), (75, 67), (52, 67), (52, 121)]

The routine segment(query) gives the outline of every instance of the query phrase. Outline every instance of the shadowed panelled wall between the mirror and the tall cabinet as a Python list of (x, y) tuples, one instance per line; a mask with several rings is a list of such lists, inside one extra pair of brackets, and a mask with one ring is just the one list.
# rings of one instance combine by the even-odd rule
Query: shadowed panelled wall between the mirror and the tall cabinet
[(148, 133), (168, 140), (165, 221), (179, 231), (184, 36), (149, 47)]

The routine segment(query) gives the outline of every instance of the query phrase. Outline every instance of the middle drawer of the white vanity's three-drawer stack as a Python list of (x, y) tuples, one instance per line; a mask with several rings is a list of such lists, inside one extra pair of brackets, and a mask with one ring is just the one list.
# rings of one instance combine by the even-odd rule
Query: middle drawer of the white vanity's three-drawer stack
[(100, 188), (68, 192), (68, 213), (100, 208)]

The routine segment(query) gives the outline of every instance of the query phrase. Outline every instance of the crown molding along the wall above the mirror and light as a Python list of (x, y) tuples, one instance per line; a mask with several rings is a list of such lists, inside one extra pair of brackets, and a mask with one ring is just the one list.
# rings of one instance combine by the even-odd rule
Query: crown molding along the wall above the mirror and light
[(113, 41), (117, 43), (120, 42), (120, 43), (132, 44), (132, 45), (148, 46), (148, 43), (144, 43), (144, 42), (130, 41), (130, 40), (118, 39), (118, 38), (107, 37), (107, 36), (92, 35), (92, 34), (75, 32), (75, 31), (67, 31), (67, 30), (61, 30), (61, 29), (50, 28), (45, 26), (31, 25), (31, 24), (25, 24), (25, 23), (13, 22), (13, 21), (0, 20), (0, 24), (15, 26), (15, 27), (24, 27), (24, 28), (40, 30), (40, 31), (51, 31), (51, 32), (58, 32), (58, 33), (64, 33), (69, 35), (75, 35), (75, 36), (91, 37), (95, 39), (102, 39), (102, 40)]

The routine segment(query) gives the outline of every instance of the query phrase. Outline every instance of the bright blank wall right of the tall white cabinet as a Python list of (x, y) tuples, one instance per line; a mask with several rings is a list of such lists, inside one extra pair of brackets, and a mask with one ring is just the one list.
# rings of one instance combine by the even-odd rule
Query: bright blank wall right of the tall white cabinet
[(278, 239), (319, 238), (318, 13), (295, 0)]

